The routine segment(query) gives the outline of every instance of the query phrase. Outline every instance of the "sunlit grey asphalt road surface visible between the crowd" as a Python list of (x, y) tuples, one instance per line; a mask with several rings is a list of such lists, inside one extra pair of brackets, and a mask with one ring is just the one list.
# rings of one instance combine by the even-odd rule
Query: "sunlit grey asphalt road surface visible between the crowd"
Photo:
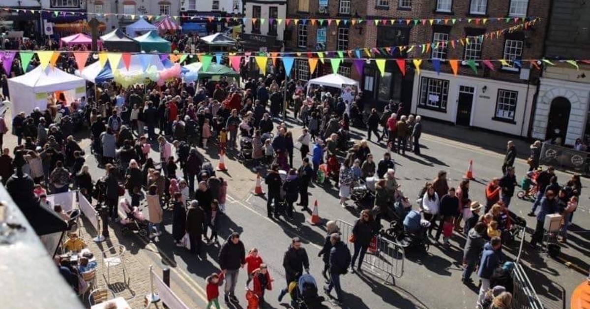
[[(298, 136), (300, 130), (293, 128), (293, 135)], [(355, 138), (364, 135), (355, 133)], [(468, 134), (477, 134), (469, 132)], [(411, 201), (415, 200), (418, 191), (425, 181), (431, 181), (438, 170), (448, 172), (451, 186), (458, 186), (463, 177), (469, 160), (474, 161), (474, 176), (470, 196), (474, 200), (484, 201), (484, 190), (487, 182), (501, 174), (501, 162), (503, 156), (493, 151), (478, 147), (477, 145), (464, 144), (447, 138), (425, 134), (421, 139), (422, 156), (417, 157), (411, 152), (407, 155), (394, 155), (397, 164), (398, 183)], [(80, 142), (83, 148), (89, 150), (89, 141)], [(374, 143), (370, 144), (371, 151), (376, 160), (379, 160), (385, 150)], [(202, 150), (202, 149), (201, 149)], [(87, 151), (90, 154), (90, 151)], [(154, 154), (155, 156), (155, 154)], [(209, 149), (207, 158), (211, 158), (217, 165), (218, 156), (214, 149)], [(232, 153), (228, 156), (231, 158)], [(296, 154), (294, 165), (300, 165), (300, 156)], [(96, 167), (93, 157), (87, 157), (87, 164), (91, 167), (94, 178), (103, 175), (104, 171)], [(264, 261), (270, 266), (271, 276), (274, 278), (273, 290), (268, 292), (266, 300), (273, 308), (281, 308), (288, 303), (288, 297), (283, 304), (278, 303), (277, 295), (284, 287), (284, 271), (282, 268), (283, 253), (293, 236), (300, 236), (304, 242), (304, 248), (312, 264), (311, 272), (319, 285), (323, 284), (320, 274), (323, 262), (317, 257), (317, 252), (323, 242), (325, 230), (322, 226), (313, 226), (307, 222), (309, 213), (301, 213), (300, 207), (296, 207), (295, 219), (292, 222), (283, 220), (271, 220), (266, 217), (266, 200), (262, 197), (252, 196), (250, 193), (254, 187), (255, 174), (239, 162), (226, 160), (229, 169), (225, 177), (230, 182), (228, 191), (227, 217), (220, 223), (220, 240), (225, 239), (231, 232), (242, 233), (242, 242), (247, 249), (258, 248)], [(526, 162), (517, 160), (517, 178), (520, 180), (527, 170)], [(223, 175), (223, 174), (222, 174)], [(569, 179), (565, 173), (557, 173), (559, 182)], [(584, 187), (589, 186), (589, 181), (582, 180)], [(266, 191), (266, 186), (263, 185)], [(330, 186), (310, 188), (310, 201), (317, 200), (319, 214), (324, 220), (340, 219), (353, 222), (358, 213), (352, 208), (342, 209), (337, 200), (337, 188)], [(531, 226), (534, 226), (533, 218), (527, 217), (530, 210), (530, 202), (514, 197), (510, 209), (525, 217), (529, 232), (526, 241), (530, 239)], [(414, 206), (415, 207), (415, 206)], [(537, 293), (542, 298), (547, 308), (569, 308), (569, 297), (573, 288), (582, 282), (588, 275), (588, 256), (590, 256), (590, 243), (588, 242), (588, 229), (590, 219), (588, 217), (588, 190), (582, 190), (581, 204), (574, 217), (574, 226), (571, 228), (569, 242), (562, 246), (562, 255), (559, 259), (552, 259), (539, 251), (532, 251), (527, 247), (523, 249), (522, 261), (527, 274), (533, 282)], [(149, 251), (147, 254), (153, 262), (160, 266), (172, 266), (173, 287), (181, 289), (183, 297), (191, 298), (191, 303), (198, 307), (205, 307), (205, 280), (212, 272), (217, 271), (217, 254), (219, 246), (207, 247), (207, 258), (197, 258), (190, 255), (183, 248), (177, 248), (169, 233), (172, 232), (172, 214), (166, 213), (166, 231), (159, 242), (141, 249)], [(444, 248), (431, 245), (428, 253), (408, 253), (404, 264), (404, 273), (401, 278), (395, 279), (395, 285), (383, 284), (384, 274), (371, 270), (363, 274), (347, 274), (342, 277), (342, 288), (345, 291), (344, 308), (474, 308), (477, 298), (477, 288), (461, 284), (460, 276), (462, 266), (460, 260), (464, 238), (454, 235), (451, 246)], [(155, 245), (155, 246), (154, 246)], [(516, 245), (504, 249), (511, 258), (517, 253)], [(240, 304), (245, 307), (246, 301), (243, 287), (246, 280), (245, 271), (241, 271), (238, 284), (238, 298)], [(477, 283), (477, 277), (473, 275)], [(389, 279), (389, 283), (391, 283)], [(320, 294), (321, 292), (320, 288)], [(332, 292), (334, 294), (334, 292)], [(329, 303), (326, 303), (329, 305)], [(224, 305), (225, 307), (225, 305)]]

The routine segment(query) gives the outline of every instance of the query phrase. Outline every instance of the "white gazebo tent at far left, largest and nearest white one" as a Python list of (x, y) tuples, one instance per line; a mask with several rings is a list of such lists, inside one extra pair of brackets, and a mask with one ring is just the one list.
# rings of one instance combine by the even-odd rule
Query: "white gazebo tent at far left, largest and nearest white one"
[(14, 112), (31, 113), (35, 108), (47, 109), (47, 97), (64, 92), (68, 102), (86, 95), (86, 80), (65, 73), (57, 67), (36, 67), (27, 74), (8, 80), (8, 91)]

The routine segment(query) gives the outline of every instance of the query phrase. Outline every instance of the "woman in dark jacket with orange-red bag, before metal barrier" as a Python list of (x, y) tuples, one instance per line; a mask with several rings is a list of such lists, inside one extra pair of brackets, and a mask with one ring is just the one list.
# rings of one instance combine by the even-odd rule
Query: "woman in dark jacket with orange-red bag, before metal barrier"
[(360, 218), (356, 219), (355, 225), (352, 227), (352, 236), (349, 238), (349, 242), (352, 242), (355, 247), (355, 253), (352, 256), (352, 261), (350, 261), (350, 271), (355, 272), (356, 258), (359, 258), (357, 270), (359, 272), (361, 271), (365, 253), (377, 230), (378, 227), (373, 220), (371, 212), (368, 209), (360, 212)]

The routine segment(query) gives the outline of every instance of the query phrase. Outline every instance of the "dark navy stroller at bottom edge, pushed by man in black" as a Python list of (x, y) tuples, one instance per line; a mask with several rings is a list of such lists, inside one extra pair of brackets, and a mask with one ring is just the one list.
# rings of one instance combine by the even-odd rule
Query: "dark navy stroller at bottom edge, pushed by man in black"
[(326, 298), (317, 295), (316, 279), (310, 274), (301, 275), (297, 282), (291, 282), (289, 295), (291, 296), (291, 307), (294, 309), (326, 308), (322, 304)]

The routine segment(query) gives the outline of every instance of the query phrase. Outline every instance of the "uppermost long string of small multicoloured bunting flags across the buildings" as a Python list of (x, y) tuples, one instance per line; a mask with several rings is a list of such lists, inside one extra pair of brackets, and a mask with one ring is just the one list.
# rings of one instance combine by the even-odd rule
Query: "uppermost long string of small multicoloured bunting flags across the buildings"
[[(99, 18), (105, 18), (105, 17), (115, 17), (115, 18), (120, 18), (120, 17), (124, 17), (124, 18), (130, 18), (135, 20), (136, 18), (145, 18), (148, 19), (148, 21), (151, 21), (152, 19), (160, 19), (160, 18), (165, 18), (165, 17), (171, 17), (177, 20), (180, 19), (190, 19), (190, 20), (198, 20), (198, 21), (207, 21), (207, 22), (214, 22), (214, 21), (222, 21), (225, 20), (225, 22), (242, 22), (243, 24), (246, 24), (247, 22), (252, 22), (255, 23), (257, 21), (260, 21), (261, 24), (264, 24), (264, 22), (266, 22), (265, 18), (257, 18), (257, 17), (216, 17), (213, 15), (199, 15), (199, 16), (188, 16), (188, 15), (137, 15), (137, 14), (125, 14), (125, 13), (97, 13), (97, 12), (72, 12), (72, 11), (61, 11), (59, 9), (19, 9), (19, 8), (11, 8), (11, 7), (7, 7), (7, 6), (0, 6), (0, 11), (5, 11), (5, 12), (14, 12), (17, 14), (41, 14), (41, 13), (45, 13), (45, 14), (53, 14), (55, 17), (58, 17), (59, 15), (74, 15), (74, 16), (82, 16), (82, 17), (99, 17)], [(466, 22), (468, 24), (474, 24), (474, 25), (479, 25), (479, 24), (486, 24), (488, 22), (497, 22), (497, 23), (507, 23), (507, 22), (522, 22), (522, 21), (529, 21), (532, 19), (535, 19), (536, 17), (534, 16), (530, 16), (530, 17), (514, 17), (514, 18), (505, 18), (505, 17), (486, 17), (486, 18), (431, 18), (431, 19), (418, 19), (418, 18), (412, 18), (412, 19), (382, 19), (382, 18), (339, 18), (339, 19), (315, 19), (315, 18), (298, 18), (298, 19), (292, 19), (292, 18), (286, 18), (285, 19), (285, 24), (289, 25), (291, 21), (293, 21), (294, 24), (307, 24), (308, 22), (311, 22), (312, 25), (317, 21), (319, 24), (322, 24), (323, 21), (327, 21), (327, 24), (329, 25), (330, 22), (335, 21), (336, 24), (340, 24), (340, 23), (344, 23), (344, 24), (348, 24), (348, 22), (350, 22), (350, 24), (352, 25), (356, 25), (356, 24), (383, 24), (383, 25), (396, 25), (396, 24), (405, 24), (405, 25), (409, 25), (412, 22), (414, 23), (414, 25), (434, 25), (434, 24), (448, 24), (449, 22), (452, 22), (453, 24), (455, 24), (456, 22)], [(268, 22), (277, 22), (277, 24), (281, 24), (283, 22), (282, 18), (269, 18)]]

